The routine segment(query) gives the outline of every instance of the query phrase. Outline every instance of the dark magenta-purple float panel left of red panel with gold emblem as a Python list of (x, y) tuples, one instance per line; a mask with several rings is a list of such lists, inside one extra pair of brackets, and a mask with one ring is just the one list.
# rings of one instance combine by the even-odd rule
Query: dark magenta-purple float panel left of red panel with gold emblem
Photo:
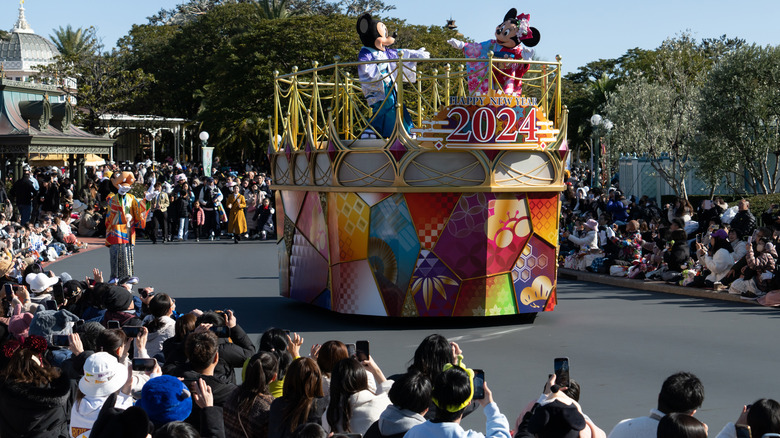
[(433, 251), (461, 279), (487, 272), (488, 202), (493, 193), (463, 194), (439, 235)]

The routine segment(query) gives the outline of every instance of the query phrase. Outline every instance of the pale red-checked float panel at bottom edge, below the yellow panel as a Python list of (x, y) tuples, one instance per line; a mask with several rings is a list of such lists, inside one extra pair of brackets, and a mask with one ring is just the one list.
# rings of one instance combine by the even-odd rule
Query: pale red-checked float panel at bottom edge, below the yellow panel
[(339, 263), (333, 271), (333, 310), (357, 315), (387, 316), (368, 260)]

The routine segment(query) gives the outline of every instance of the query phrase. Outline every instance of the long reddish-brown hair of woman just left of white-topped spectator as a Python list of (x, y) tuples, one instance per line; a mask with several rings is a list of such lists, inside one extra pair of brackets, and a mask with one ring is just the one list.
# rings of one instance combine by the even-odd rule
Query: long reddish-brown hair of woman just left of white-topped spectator
[(299, 357), (287, 369), (284, 378), (284, 408), (282, 422), (292, 433), (298, 425), (306, 423), (314, 399), (322, 397), (322, 374), (314, 359)]

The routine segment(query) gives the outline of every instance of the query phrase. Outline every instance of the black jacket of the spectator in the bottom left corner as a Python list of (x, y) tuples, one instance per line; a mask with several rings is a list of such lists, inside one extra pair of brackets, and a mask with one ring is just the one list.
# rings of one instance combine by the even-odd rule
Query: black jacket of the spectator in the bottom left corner
[(0, 436), (66, 438), (75, 390), (66, 375), (46, 387), (0, 382)]

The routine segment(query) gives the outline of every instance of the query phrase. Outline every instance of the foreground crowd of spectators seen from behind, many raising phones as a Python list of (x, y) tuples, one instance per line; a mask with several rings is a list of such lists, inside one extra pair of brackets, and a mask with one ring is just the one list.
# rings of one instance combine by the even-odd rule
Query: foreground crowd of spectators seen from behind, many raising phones
[[(441, 335), (386, 376), (360, 342), (328, 340), (302, 356), (299, 334), (270, 328), (254, 343), (232, 310), (185, 313), (133, 278), (108, 284), (95, 269), (80, 281), (33, 265), (24, 279), (0, 279), (2, 437), (607, 437), (580, 405), (580, 385), (555, 373), (510, 425), (483, 371)], [(44, 288), (37, 302), (33, 284)], [(695, 418), (703, 401), (701, 381), (676, 373), (656, 409), (609, 437), (706, 437)], [(480, 407), (485, 432), (465, 430)], [(780, 432), (780, 404), (743, 406), (717, 436), (749, 429), (776, 436), (764, 434)]]

